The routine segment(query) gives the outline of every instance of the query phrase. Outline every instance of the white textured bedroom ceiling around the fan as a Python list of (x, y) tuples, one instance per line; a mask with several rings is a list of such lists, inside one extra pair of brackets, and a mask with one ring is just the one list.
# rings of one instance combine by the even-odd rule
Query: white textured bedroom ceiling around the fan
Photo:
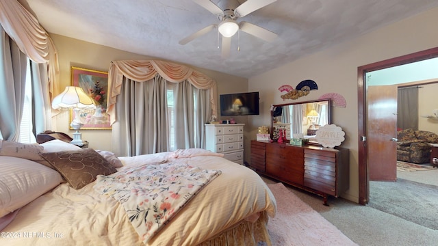
[[(216, 29), (178, 44), (219, 23), (191, 0), (19, 1), (49, 33), (246, 78), (438, 7), (437, 0), (278, 0), (237, 21), (269, 29), (279, 38), (268, 43), (240, 32), (240, 40), (237, 35), (232, 39), (230, 57), (222, 59)], [(212, 1), (220, 5), (224, 0)]]

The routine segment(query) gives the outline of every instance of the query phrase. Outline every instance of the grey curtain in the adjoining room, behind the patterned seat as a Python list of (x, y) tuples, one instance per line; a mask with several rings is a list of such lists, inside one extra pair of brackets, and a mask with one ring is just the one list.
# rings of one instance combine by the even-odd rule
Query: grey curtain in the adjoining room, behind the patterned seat
[(397, 128), (418, 130), (418, 87), (398, 88)]

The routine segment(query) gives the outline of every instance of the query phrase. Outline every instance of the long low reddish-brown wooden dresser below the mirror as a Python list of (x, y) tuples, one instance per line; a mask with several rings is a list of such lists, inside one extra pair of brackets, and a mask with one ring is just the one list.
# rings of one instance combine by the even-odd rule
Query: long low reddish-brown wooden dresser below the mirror
[(350, 185), (349, 150), (251, 141), (250, 167), (294, 187), (338, 197)]

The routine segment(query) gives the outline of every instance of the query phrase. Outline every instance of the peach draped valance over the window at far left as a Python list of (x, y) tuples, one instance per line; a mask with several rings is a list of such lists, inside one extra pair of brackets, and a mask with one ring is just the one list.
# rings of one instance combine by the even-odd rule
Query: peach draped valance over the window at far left
[(18, 48), (32, 61), (48, 63), (51, 99), (59, 94), (57, 51), (38, 20), (16, 0), (0, 0), (0, 24)]

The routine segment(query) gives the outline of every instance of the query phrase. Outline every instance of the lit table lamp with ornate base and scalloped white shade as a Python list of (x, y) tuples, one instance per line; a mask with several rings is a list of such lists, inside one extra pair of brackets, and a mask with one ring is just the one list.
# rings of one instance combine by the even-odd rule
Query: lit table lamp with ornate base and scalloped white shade
[(75, 129), (76, 132), (73, 133), (73, 140), (70, 141), (70, 143), (83, 146), (84, 143), (81, 139), (81, 133), (79, 133), (79, 129), (83, 126), (83, 123), (79, 118), (79, 113), (81, 109), (96, 109), (92, 98), (85, 94), (81, 87), (67, 86), (64, 92), (53, 98), (52, 108), (61, 110), (73, 109), (75, 119), (73, 119), (70, 126)]

